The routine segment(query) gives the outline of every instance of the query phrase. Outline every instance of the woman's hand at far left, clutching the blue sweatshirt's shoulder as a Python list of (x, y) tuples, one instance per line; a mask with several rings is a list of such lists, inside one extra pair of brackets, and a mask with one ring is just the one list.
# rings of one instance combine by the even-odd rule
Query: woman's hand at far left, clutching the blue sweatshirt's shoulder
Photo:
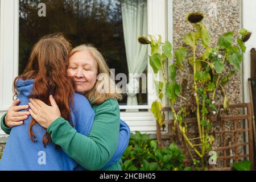
[(23, 125), (23, 120), (27, 119), (28, 115), (30, 115), (29, 111), (20, 111), (28, 109), (28, 105), (18, 106), (19, 102), (19, 99), (14, 101), (7, 111), (5, 116), (5, 125), (7, 127)]

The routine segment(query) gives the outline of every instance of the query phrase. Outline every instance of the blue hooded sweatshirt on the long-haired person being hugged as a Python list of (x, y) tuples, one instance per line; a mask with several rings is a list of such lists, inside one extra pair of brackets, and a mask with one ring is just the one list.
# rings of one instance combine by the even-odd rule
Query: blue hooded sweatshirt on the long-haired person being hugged
[[(19, 105), (27, 105), (30, 93), (33, 89), (34, 80), (21, 80), (16, 82), (18, 90)], [(73, 94), (73, 107), (71, 106), (71, 121), (73, 128), (82, 135), (89, 136), (93, 125), (94, 110), (86, 97), (79, 93)], [(13, 127), (7, 140), (5, 151), (0, 161), (0, 170), (64, 170), (71, 171), (82, 169), (81, 166), (70, 158), (61, 149), (56, 149), (53, 142), (49, 142), (44, 148), (42, 137), (46, 129), (38, 123), (33, 126), (36, 142), (30, 140), (28, 133), (32, 120), (31, 115), (24, 120), (24, 124)], [(121, 121), (118, 147), (113, 158), (106, 164), (106, 167), (115, 163), (125, 151), (130, 138), (130, 129), (125, 122)], [(128, 142), (127, 142), (128, 140)], [(77, 167), (80, 166), (80, 167)]]

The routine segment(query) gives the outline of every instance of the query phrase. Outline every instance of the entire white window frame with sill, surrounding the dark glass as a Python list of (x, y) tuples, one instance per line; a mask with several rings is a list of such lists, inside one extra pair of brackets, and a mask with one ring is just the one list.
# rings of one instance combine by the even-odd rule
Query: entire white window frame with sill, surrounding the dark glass
[[(168, 3), (172, 1), (168, 1)], [(0, 11), (0, 117), (13, 102), (13, 80), (18, 76), (19, 52), (19, 1), (1, 0)], [(147, 0), (148, 34), (162, 35), (167, 40), (167, 0)], [(170, 15), (169, 15), (170, 16)], [(148, 48), (150, 52), (150, 48)], [(149, 74), (153, 74), (149, 60)], [(161, 78), (160, 78), (161, 79)], [(147, 89), (155, 88), (154, 80), (147, 79)], [(150, 91), (152, 92), (152, 90)], [(148, 92), (149, 93), (149, 92)], [(123, 106), (120, 109), (150, 109), (156, 100), (155, 94), (148, 94), (148, 105)], [(136, 117), (134, 117), (136, 116)], [(142, 133), (155, 133), (156, 121), (148, 111), (136, 113), (121, 112), (121, 118), (127, 121), (131, 131), (141, 130)], [(134, 126), (134, 129), (133, 129)], [(140, 127), (137, 127), (140, 126)], [(148, 127), (148, 129), (146, 129)], [(0, 135), (3, 131), (0, 130)]]

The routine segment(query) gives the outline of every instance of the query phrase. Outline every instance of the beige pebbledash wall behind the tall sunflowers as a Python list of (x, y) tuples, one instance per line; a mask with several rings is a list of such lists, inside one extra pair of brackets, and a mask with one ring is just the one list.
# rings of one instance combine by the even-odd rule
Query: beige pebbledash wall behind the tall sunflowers
[[(174, 48), (183, 46), (183, 36), (186, 32), (192, 30), (193, 26), (187, 22), (186, 15), (190, 12), (201, 12), (205, 14), (204, 23), (208, 28), (211, 37), (210, 46), (217, 46), (218, 39), (222, 34), (228, 31), (239, 31), (242, 27), (242, 2), (241, 0), (174, 0)], [(190, 52), (191, 56), (192, 53)], [(193, 73), (188, 61), (184, 62), (183, 72), (178, 76), (178, 81), (187, 85), (183, 96), (192, 97)], [(229, 72), (226, 70), (226, 72)], [(230, 103), (242, 102), (242, 73), (234, 75), (229, 84), (225, 86)], [(220, 91), (220, 90), (219, 90)], [(183, 100), (184, 101), (184, 100)], [(218, 92), (216, 97), (218, 104), (222, 103), (221, 93)]]

